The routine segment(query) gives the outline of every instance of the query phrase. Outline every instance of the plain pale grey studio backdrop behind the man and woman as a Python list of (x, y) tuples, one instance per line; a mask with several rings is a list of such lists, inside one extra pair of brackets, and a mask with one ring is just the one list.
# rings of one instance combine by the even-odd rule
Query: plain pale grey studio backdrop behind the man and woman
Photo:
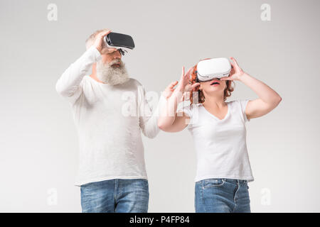
[[(80, 212), (78, 135), (55, 91), (94, 31), (132, 35), (129, 76), (161, 91), (208, 57), (235, 57), (281, 97), (252, 118), (252, 212), (320, 211), (320, 1), (0, 1), (0, 211)], [(257, 99), (235, 81), (227, 101)], [(194, 212), (191, 135), (143, 138), (149, 212)]]

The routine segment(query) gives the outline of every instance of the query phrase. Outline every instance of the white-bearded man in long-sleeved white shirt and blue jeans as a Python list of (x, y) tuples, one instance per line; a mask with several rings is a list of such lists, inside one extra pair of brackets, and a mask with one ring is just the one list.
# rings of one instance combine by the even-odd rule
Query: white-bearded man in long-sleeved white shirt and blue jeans
[[(82, 212), (147, 212), (149, 184), (141, 131), (148, 138), (159, 133), (158, 110), (151, 114), (142, 84), (129, 78), (122, 50), (104, 44), (110, 32), (90, 35), (87, 51), (65, 70), (55, 89), (70, 102), (78, 130), (75, 185), (80, 186)], [(125, 114), (124, 94), (134, 94), (136, 114)]]

